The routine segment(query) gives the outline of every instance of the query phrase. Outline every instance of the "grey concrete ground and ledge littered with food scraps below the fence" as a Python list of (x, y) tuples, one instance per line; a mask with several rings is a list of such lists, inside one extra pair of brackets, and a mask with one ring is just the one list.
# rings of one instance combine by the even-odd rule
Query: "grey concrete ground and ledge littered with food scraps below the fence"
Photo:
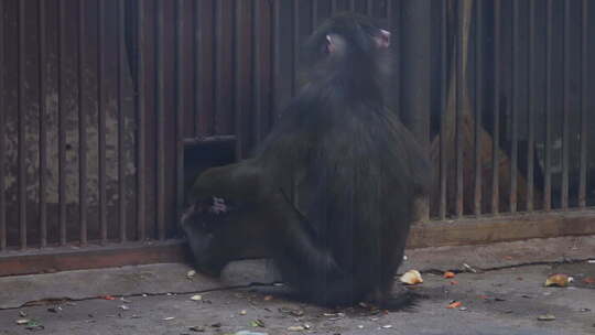
[[(421, 270), (424, 282), (412, 289), (425, 295), (409, 312), (288, 300), (284, 287), (249, 285), (273, 280), (261, 261), (231, 264), (223, 281), (154, 264), (0, 278), (0, 334), (595, 334), (595, 237), (407, 255), (400, 271)], [(551, 273), (574, 281), (545, 288)], [(453, 301), (461, 305), (447, 309)]]

